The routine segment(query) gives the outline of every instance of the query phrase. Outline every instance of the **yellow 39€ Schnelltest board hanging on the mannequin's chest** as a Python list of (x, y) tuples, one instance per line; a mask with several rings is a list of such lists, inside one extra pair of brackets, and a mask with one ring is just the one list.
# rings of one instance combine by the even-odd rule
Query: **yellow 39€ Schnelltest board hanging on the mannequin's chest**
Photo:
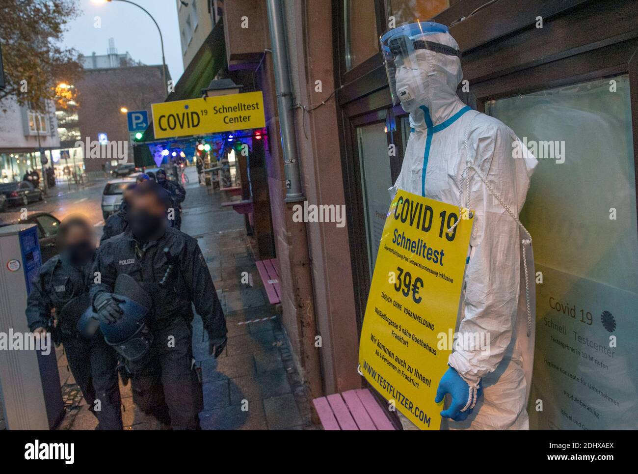
[[(360, 371), (420, 429), (440, 429), (434, 403), (452, 351), (473, 219), (399, 190), (376, 257), (359, 344)], [(444, 344), (440, 344), (440, 341)]]

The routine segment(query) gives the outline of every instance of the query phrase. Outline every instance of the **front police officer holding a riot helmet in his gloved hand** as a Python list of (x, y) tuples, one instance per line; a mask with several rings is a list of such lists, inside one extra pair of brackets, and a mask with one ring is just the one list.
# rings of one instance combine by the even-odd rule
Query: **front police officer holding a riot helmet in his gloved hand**
[(98, 250), (93, 271), (101, 282), (91, 286), (90, 294), (98, 317), (111, 324), (122, 317), (112, 293), (118, 275), (130, 275), (152, 296), (151, 347), (128, 363), (133, 390), (145, 392), (137, 394), (136, 402), (150, 413), (152, 399), (163, 391), (172, 429), (197, 429), (203, 402), (192, 369), (191, 303), (202, 317), (209, 353), (215, 357), (226, 346), (226, 319), (197, 240), (168, 227), (170, 205), (168, 193), (157, 183), (135, 188), (129, 228)]

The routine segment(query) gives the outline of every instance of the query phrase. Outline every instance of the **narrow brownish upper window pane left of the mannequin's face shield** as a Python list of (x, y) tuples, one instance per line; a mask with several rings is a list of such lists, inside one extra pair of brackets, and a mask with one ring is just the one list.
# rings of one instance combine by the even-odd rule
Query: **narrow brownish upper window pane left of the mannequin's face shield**
[(375, 0), (346, 0), (344, 12), (345, 59), (349, 71), (379, 50)]

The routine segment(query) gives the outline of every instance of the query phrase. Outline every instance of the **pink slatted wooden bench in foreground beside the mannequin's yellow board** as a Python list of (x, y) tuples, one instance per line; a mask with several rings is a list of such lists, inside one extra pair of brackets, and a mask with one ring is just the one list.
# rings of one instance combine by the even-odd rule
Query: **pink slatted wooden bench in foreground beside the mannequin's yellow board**
[(316, 398), (313, 405), (326, 431), (396, 431), (367, 389)]

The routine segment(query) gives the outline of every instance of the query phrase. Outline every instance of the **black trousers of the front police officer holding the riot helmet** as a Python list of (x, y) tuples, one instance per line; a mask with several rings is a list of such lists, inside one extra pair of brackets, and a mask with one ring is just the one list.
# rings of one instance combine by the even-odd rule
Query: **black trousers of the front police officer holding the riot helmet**
[(175, 319), (153, 331), (149, 351), (130, 361), (133, 401), (145, 413), (160, 421), (164, 406), (172, 429), (199, 429), (199, 413), (204, 409), (202, 385), (192, 368), (191, 326)]

